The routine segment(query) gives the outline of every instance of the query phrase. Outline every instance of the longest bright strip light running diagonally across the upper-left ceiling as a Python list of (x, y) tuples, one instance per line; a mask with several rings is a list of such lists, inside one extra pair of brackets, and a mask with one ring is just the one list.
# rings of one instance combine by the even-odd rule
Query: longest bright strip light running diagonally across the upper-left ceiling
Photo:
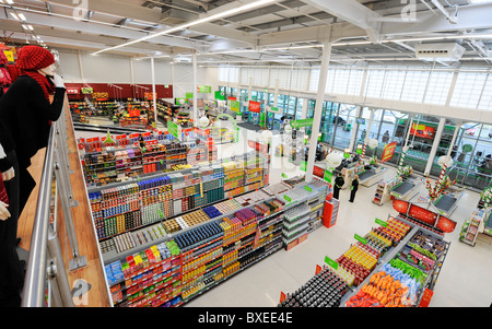
[(178, 25), (176, 27), (172, 27), (172, 28), (159, 32), (159, 33), (150, 34), (148, 36), (144, 36), (142, 38), (139, 38), (139, 39), (136, 39), (136, 40), (132, 40), (132, 42), (128, 42), (128, 43), (125, 43), (125, 44), (121, 44), (121, 45), (118, 45), (118, 46), (114, 46), (114, 47), (109, 47), (109, 48), (106, 48), (106, 49), (102, 49), (102, 50), (95, 51), (92, 55), (98, 55), (98, 54), (104, 52), (104, 51), (114, 50), (114, 49), (118, 49), (118, 48), (121, 48), (121, 47), (127, 47), (127, 46), (130, 46), (130, 45), (133, 45), (133, 44), (138, 44), (138, 43), (141, 43), (141, 42), (147, 42), (147, 40), (149, 40), (151, 38), (154, 38), (154, 37), (157, 37), (157, 36), (161, 36), (161, 35), (174, 33), (174, 32), (177, 32), (177, 31), (181, 31), (181, 30), (185, 30), (185, 28), (188, 28), (188, 27), (191, 27), (191, 26), (195, 26), (195, 25), (208, 23), (208, 22), (211, 22), (211, 21), (216, 21), (216, 20), (220, 20), (222, 17), (234, 15), (234, 14), (239, 13), (239, 12), (248, 11), (248, 10), (255, 9), (257, 7), (260, 7), (260, 5), (273, 2), (273, 1), (276, 1), (276, 0), (259, 0), (259, 1), (255, 1), (255, 2), (248, 3), (248, 4), (236, 7), (236, 8), (233, 8), (233, 9), (230, 9), (230, 10), (216, 13), (216, 14), (212, 14), (210, 16), (206, 16), (206, 17), (192, 21), (192, 22), (184, 23), (184, 24)]

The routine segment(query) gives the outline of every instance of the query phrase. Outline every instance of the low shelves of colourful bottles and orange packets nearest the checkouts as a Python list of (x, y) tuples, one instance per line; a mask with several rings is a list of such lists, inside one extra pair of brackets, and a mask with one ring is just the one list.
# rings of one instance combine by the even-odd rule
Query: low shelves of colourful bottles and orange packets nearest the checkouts
[[(415, 212), (412, 214), (415, 215)], [(319, 284), (317, 273), (301, 289), (281, 299), (279, 306), (419, 306), (424, 293), (432, 291), (437, 280), (449, 243), (443, 240), (440, 234), (399, 216), (376, 220), (376, 223), (378, 226), (364, 237), (355, 234), (356, 242), (336, 260), (325, 259), (330, 271), (347, 284), (340, 301), (337, 298), (336, 303), (331, 303), (325, 296), (325, 291), (330, 287), (326, 282)], [(312, 285), (312, 282), (316, 284)]]

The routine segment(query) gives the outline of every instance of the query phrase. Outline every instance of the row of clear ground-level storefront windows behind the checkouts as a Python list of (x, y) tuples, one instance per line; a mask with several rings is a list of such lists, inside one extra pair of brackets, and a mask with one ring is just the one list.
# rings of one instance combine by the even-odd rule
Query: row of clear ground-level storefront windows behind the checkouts
[[(259, 126), (260, 114), (248, 114), (247, 104), (248, 91), (221, 87), (227, 96), (237, 95), (242, 101), (242, 111), (247, 117), (247, 121)], [(237, 94), (238, 92), (238, 94)], [(261, 103), (265, 114), (265, 106), (274, 106), (274, 94), (259, 91), (251, 91), (251, 99)], [(281, 118), (301, 119), (303, 109), (303, 98), (279, 94), (277, 98), (278, 113), (266, 114), (266, 125), (270, 130), (281, 129)], [(306, 117), (313, 118), (316, 101), (307, 99)], [(349, 148), (352, 131), (355, 129), (355, 141), (353, 148), (363, 143), (367, 133), (371, 109), (363, 107), (358, 114), (358, 106), (352, 104), (340, 104), (325, 101), (323, 104), (320, 141), (333, 145), (339, 150)], [(376, 155), (382, 157), (386, 144), (397, 142), (395, 155), (387, 162), (390, 165), (398, 165), (401, 149), (405, 145), (408, 130), (410, 137), (408, 151), (403, 165), (411, 165), (415, 173), (425, 172), (435, 133), (440, 125), (440, 117), (414, 115), (413, 125), (410, 127), (410, 116), (407, 113), (378, 108), (374, 110), (373, 121), (368, 131), (370, 139), (376, 139), (379, 143), (376, 149), (367, 148), (366, 156)], [(446, 155), (453, 139), (456, 124), (452, 119), (446, 119), (442, 137), (440, 139), (436, 154), (432, 158), (430, 175), (437, 177), (441, 174), (441, 166), (437, 161)], [(306, 128), (306, 134), (311, 136), (312, 128)], [(454, 164), (448, 168), (447, 174), (458, 184), (483, 190), (492, 184), (492, 125), (480, 122), (467, 122), (458, 131), (455, 146), (450, 153)]]

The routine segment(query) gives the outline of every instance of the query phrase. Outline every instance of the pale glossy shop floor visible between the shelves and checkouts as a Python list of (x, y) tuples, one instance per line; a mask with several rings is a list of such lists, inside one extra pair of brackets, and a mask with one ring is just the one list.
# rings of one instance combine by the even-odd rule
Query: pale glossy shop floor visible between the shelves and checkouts
[[(241, 145), (239, 141), (236, 148)], [(283, 160), (285, 158), (272, 157), (270, 184), (280, 181), (281, 174), (284, 172), (297, 172), (285, 164), (286, 160)], [(386, 175), (395, 175), (395, 169), (390, 167)], [(289, 251), (280, 249), (184, 306), (276, 306), (279, 303), (280, 292), (293, 292), (309, 280), (315, 273), (316, 265), (324, 263), (325, 256), (335, 259), (354, 243), (354, 234), (364, 234), (375, 226), (376, 218), (386, 220), (388, 214), (396, 214), (389, 202), (382, 207), (371, 202), (375, 188), (375, 186), (361, 187), (354, 203), (348, 202), (350, 190), (342, 190), (339, 216), (333, 227), (321, 226), (293, 249)], [(422, 193), (425, 193), (423, 187), (420, 190), (420, 195)], [(455, 232), (445, 236), (445, 240), (452, 242), (452, 245), (435, 284), (431, 307), (488, 307), (491, 305), (492, 285), (490, 279), (483, 273), (492, 272), (492, 247), (481, 242), (478, 242), (476, 247), (470, 247), (458, 240), (460, 227), (478, 200), (478, 193), (466, 191), (450, 216), (458, 224)]]

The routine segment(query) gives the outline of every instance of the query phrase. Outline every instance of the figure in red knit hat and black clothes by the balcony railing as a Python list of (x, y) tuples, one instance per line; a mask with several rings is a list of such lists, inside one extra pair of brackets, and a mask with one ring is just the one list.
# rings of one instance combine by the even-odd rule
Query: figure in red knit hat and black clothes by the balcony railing
[(0, 144), (7, 154), (0, 172), (10, 173), (3, 179), (10, 218), (0, 221), (0, 306), (21, 305), (24, 275), (15, 250), (17, 220), (36, 185), (27, 168), (31, 157), (47, 146), (50, 124), (60, 117), (66, 94), (54, 64), (49, 50), (24, 46), (17, 55), (19, 77), (0, 97)]

